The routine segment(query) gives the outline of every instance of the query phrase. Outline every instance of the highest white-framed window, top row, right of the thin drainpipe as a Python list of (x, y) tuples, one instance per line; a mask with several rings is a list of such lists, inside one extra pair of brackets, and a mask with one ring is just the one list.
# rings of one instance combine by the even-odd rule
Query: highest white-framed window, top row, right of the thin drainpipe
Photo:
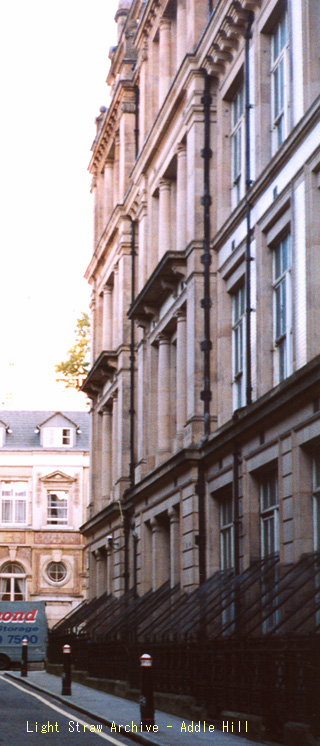
[(275, 152), (287, 136), (288, 13), (285, 10), (271, 34), (272, 131)]

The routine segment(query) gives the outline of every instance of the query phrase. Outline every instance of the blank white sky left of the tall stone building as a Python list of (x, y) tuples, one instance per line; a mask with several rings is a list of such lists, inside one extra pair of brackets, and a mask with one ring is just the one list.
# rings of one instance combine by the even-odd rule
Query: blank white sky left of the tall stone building
[[(0, 4), (0, 408), (82, 409), (54, 366), (88, 310), (87, 172), (118, 0)], [(6, 406), (6, 404), (5, 404)]]

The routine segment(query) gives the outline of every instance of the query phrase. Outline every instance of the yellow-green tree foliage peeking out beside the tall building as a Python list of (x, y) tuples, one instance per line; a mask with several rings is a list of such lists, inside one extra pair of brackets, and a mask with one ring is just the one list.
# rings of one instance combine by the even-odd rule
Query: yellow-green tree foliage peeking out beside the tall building
[(56, 380), (66, 388), (80, 390), (89, 369), (90, 321), (87, 313), (82, 313), (75, 328), (75, 343), (68, 350), (67, 360), (55, 366)]

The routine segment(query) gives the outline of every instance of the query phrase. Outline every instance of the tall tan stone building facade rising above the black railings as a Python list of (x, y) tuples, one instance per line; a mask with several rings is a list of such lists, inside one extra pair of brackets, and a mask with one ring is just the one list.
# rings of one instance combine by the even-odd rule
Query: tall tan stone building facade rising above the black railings
[(96, 120), (89, 593), (320, 541), (320, 9), (120, 0)]

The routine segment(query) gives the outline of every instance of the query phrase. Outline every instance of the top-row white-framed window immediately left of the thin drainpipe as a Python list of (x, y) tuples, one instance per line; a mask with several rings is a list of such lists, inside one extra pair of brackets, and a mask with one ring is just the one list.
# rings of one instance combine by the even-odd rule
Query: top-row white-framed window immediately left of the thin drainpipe
[(231, 171), (234, 205), (242, 199), (244, 189), (244, 88), (238, 90), (231, 103)]

